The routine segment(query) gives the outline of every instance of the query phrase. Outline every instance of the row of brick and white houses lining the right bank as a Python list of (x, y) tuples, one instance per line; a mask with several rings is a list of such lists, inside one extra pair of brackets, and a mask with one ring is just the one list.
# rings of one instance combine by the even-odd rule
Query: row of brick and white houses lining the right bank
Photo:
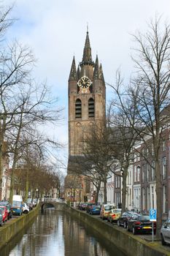
[[(162, 208), (163, 218), (169, 214), (170, 210), (170, 129), (166, 127), (163, 131), (163, 141), (161, 145), (160, 167), (162, 176)], [(133, 162), (128, 168), (127, 189), (126, 189), (126, 208), (135, 211), (149, 211), (150, 208), (156, 208), (156, 192), (155, 192), (155, 162), (152, 160), (149, 151), (144, 148), (141, 143), (137, 147), (137, 152), (134, 154)], [(120, 174), (120, 171), (117, 170)], [(116, 206), (121, 206), (121, 189), (122, 178), (113, 173), (109, 173), (107, 179), (107, 202), (115, 203)], [(93, 195), (94, 187), (91, 185), (90, 194)], [(99, 193), (98, 201), (103, 200), (103, 186)], [(93, 199), (93, 197), (91, 197)]]

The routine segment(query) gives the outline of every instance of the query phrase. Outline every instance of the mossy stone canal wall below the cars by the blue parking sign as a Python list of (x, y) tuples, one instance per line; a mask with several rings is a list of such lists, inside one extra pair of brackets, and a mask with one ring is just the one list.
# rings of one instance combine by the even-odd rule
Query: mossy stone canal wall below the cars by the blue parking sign
[(80, 219), (86, 225), (96, 230), (107, 241), (111, 242), (117, 249), (124, 252), (128, 256), (165, 256), (170, 255), (166, 249), (161, 246), (160, 242), (149, 242), (128, 233), (124, 228), (110, 225), (96, 217), (86, 214), (83, 211), (78, 211), (69, 206), (64, 206), (64, 209), (72, 216)]

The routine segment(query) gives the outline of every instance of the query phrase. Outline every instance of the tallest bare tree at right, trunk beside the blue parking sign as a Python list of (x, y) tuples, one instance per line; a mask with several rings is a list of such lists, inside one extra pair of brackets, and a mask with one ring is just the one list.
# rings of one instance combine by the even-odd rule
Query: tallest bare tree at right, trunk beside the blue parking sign
[[(134, 35), (136, 48), (133, 60), (136, 75), (126, 90), (128, 102), (134, 107), (131, 112), (124, 105), (120, 88), (117, 97), (124, 113), (128, 113), (131, 127), (139, 132), (144, 146), (152, 146), (152, 159), (155, 161), (155, 181), (157, 197), (157, 232), (159, 236), (162, 223), (162, 173), (160, 166), (163, 127), (169, 125), (170, 89), (170, 26), (161, 23), (161, 18), (151, 20), (145, 34)], [(124, 94), (125, 97), (125, 94)], [(135, 118), (135, 124), (131, 120)], [(142, 132), (141, 132), (142, 131)], [(151, 145), (150, 145), (151, 144)]]

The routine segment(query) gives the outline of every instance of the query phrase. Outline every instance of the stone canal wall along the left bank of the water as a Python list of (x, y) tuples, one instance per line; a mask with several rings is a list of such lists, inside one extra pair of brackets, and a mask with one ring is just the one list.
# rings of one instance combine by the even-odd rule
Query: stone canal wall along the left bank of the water
[(21, 217), (9, 219), (2, 227), (0, 227), (0, 249), (15, 237), (21, 230), (23, 230), (29, 222), (39, 212), (39, 206), (36, 206), (28, 214), (23, 214)]

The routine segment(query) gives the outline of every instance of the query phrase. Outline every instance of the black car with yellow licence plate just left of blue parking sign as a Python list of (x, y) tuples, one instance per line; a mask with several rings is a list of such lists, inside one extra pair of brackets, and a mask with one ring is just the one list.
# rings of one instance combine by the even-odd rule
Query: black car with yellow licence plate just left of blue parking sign
[[(152, 233), (152, 222), (150, 222), (150, 215), (134, 214), (128, 220), (127, 230), (136, 233)], [(153, 232), (156, 233), (156, 222), (153, 222)]]

